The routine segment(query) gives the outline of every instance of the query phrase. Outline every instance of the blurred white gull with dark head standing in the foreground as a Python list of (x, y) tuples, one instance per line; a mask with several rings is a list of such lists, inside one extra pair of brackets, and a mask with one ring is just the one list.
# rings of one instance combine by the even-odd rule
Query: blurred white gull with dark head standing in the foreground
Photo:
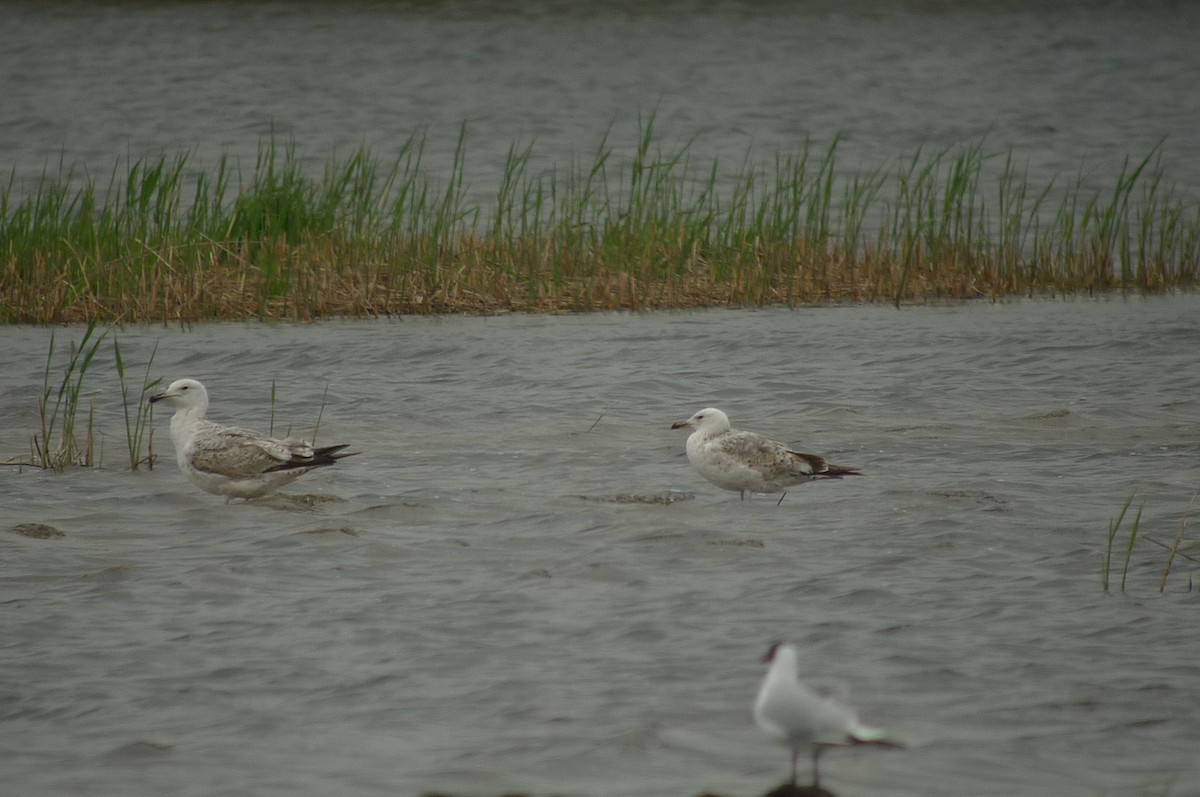
[(792, 751), (792, 780), (796, 761), (804, 749), (812, 750), (812, 787), (821, 787), (817, 759), (826, 748), (847, 744), (904, 747), (875, 727), (860, 725), (852, 708), (835, 697), (800, 682), (798, 653), (792, 642), (775, 642), (763, 661), (770, 664), (754, 703), (754, 719), (763, 731)]

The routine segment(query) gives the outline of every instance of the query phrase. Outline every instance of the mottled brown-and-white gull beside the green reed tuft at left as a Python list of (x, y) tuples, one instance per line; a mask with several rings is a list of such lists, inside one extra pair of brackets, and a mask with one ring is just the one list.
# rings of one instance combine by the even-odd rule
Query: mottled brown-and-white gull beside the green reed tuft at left
[(176, 379), (150, 402), (175, 407), (170, 442), (179, 469), (202, 490), (229, 498), (258, 498), (313, 468), (334, 465), (354, 453), (346, 445), (313, 448), (288, 438), (276, 439), (234, 426), (205, 420), (209, 392), (196, 379)]

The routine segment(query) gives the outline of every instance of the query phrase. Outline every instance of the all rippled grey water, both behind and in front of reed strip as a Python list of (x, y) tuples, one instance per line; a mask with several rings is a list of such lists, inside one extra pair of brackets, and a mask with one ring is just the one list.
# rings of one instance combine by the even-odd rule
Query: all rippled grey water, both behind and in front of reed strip
[[(272, 132), (318, 169), (427, 134), (494, 194), (628, 158), (638, 118), (722, 173), (839, 138), (846, 169), (986, 140), (1034, 186), (1110, 186), (1162, 144), (1200, 186), (1200, 6), (1086, 2), (6, 2), (0, 170)], [(124, 173), (124, 167), (118, 169)], [(1134, 197), (1136, 199), (1136, 197)], [(842, 797), (1195, 795), (1195, 296), (803, 311), (130, 328), (139, 378), (217, 420), (361, 454), (226, 504), (122, 467), (112, 340), (100, 469), (0, 472), (0, 783), (13, 795), (754, 796), (779, 637), (906, 751), (833, 751)], [(78, 328), (55, 330), (64, 349)], [(50, 330), (0, 328), (0, 461), (29, 459)], [(328, 390), (328, 392), (326, 392)], [(857, 466), (779, 507), (698, 479), (674, 420)], [(1130, 510), (1133, 511), (1133, 510)], [(46, 523), (62, 537), (13, 533)], [(1126, 528), (1129, 522), (1127, 520)], [(1194, 539), (1190, 527), (1186, 539)], [(1124, 529), (1117, 538), (1123, 546)], [(1194, 546), (1186, 549), (1196, 556)], [(1118, 552), (1118, 559), (1123, 553)]]

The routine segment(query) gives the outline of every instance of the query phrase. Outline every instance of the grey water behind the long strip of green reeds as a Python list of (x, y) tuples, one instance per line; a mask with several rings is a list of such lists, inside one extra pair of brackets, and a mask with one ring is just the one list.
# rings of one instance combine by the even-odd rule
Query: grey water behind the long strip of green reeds
[(1162, 145), (1195, 202), (1198, 29), (1172, 1), (6, 2), (0, 173), (31, 190), (61, 158), (103, 187), (118, 158), (191, 152), (248, 176), (272, 133), (319, 172), (425, 132), (445, 179), (466, 122), (466, 190), (490, 206), (514, 143), (565, 170), (611, 130), (616, 163), (654, 115), (701, 176), (806, 139), (839, 138), (841, 173), (986, 142), (1034, 191), (1109, 191)]

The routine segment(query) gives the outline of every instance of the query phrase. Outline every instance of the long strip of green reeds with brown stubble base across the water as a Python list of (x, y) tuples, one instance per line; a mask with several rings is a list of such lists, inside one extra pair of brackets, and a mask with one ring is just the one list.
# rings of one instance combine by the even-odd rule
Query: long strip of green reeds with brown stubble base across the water
[[(1158, 152), (1108, 192), (1032, 186), (982, 144), (850, 176), (836, 142), (719, 176), (643, 126), (628, 163), (534, 173), (509, 150), (491, 206), (408, 139), (307, 176), (268, 142), (244, 178), (187, 156), (108, 187), (44, 173), (0, 193), (0, 323), (314, 318), (820, 301), (920, 301), (1195, 286), (1200, 209)], [(749, 160), (749, 158), (748, 158)]]

